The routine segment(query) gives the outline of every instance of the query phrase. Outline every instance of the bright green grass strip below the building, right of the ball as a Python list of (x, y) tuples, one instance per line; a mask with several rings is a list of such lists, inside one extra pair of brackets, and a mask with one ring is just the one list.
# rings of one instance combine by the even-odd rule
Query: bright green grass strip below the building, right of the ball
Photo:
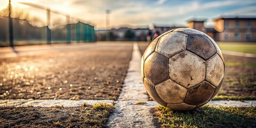
[(256, 54), (256, 43), (247, 42), (217, 42), (221, 50)]

